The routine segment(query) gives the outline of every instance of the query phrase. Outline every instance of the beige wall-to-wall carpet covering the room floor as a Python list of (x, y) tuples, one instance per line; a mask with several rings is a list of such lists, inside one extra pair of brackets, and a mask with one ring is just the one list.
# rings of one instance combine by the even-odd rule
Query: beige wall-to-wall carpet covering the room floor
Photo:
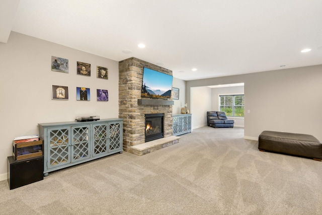
[(179, 144), (50, 173), (14, 190), (0, 214), (321, 214), (322, 163), (259, 152), (243, 128), (195, 129)]

